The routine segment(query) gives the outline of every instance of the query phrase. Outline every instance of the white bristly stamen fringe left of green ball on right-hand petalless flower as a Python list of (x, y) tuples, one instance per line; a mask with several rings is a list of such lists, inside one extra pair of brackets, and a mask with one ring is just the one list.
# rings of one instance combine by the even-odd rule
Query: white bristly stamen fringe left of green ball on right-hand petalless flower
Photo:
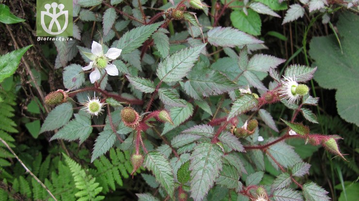
[(284, 77), (284, 79), (285, 81), (282, 82), (282, 87), (279, 90), (279, 93), (281, 93), (279, 96), (282, 97), (282, 100), (288, 99), (288, 103), (294, 103), (300, 98), (300, 95), (295, 93), (295, 89), (298, 87), (298, 82), (295, 77)]

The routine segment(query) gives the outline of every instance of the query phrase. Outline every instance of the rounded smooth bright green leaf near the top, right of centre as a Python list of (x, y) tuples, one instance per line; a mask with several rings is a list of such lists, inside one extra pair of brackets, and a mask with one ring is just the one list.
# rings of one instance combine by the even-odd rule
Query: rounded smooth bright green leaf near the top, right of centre
[(230, 14), (233, 27), (251, 35), (261, 35), (261, 17), (252, 9), (247, 9), (247, 12), (248, 15), (243, 11), (233, 11)]

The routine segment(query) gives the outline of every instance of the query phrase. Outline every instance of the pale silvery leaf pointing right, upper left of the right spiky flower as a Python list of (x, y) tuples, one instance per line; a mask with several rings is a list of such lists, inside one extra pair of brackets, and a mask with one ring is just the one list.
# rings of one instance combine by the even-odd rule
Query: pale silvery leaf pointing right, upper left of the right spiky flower
[(250, 58), (247, 70), (268, 72), (270, 68), (277, 68), (277, 66), (283, 62), (285, 62), (284, 59), (279, 59), (271, 55), (255, 54)]

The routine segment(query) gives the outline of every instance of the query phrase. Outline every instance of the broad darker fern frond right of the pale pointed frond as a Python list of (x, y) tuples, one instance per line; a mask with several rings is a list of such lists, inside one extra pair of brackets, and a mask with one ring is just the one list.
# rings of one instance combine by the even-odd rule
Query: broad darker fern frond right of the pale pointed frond
[(90, 169), (90, 172), (98, 178), (100, 186), (103, 187), (103, 193), (108, 193), (110, 189), (114, 191), (116, 184), (122, 186), (122, 178), (129, 178), (133, 170), (129, 151), (122, 152), (119, 149), (112, 148), (109, 155), (111, 161), (105, 155), (102, 155), (94, 161), (97, 169)]

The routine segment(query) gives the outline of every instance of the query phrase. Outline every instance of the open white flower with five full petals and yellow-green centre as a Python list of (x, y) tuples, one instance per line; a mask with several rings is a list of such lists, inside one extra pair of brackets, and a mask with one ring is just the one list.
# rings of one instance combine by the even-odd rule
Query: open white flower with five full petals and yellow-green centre
[(120, 56), (122, 49), (111, 47), (106, 54), (103, 54), (102, 46), (96, 41), (92, 42), (91, 53), (84, 53), (91, 62), (88, 66), (82, 67), (82, 70), (90, 70), (95, 68), (90, 74), (91, 83), (95, 83), (101, 77), (101, 72), (106, 70), (110, 76), (118, 76), (118, 70), (114, 64), (110, 62)]

